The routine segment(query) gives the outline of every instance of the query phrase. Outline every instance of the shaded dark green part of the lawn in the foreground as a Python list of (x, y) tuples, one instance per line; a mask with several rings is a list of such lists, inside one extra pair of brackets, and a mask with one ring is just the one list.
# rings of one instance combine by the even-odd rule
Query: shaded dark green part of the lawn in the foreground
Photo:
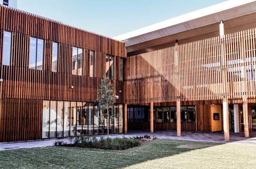
[(123, 151), (78, 147), (44, 147), (0, 151), (5, 168), (122, 168), (221, 143), (156, 139)]

